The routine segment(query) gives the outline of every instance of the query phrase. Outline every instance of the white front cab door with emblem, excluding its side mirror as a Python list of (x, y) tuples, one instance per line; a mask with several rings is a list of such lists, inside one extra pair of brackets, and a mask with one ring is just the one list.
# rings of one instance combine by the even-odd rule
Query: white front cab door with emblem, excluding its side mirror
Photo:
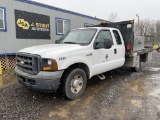
[[(110, 39), (113, 43), (112, 47), (109, 49), (106, 49), (104, 47), (104, 41), (106, 39)], [(94, 42), (94, 50), (93, 50), (93, 56), (94, 56), (94, 65), (93, 65), (93, 75), (97, 75), (109, 70), (112, 70), (116, 67), (116, 59), (115, 57), (115, 45), (113, 42), (113, 38), (111, 35), (110, 30), (100, 30), (95, 42)]]

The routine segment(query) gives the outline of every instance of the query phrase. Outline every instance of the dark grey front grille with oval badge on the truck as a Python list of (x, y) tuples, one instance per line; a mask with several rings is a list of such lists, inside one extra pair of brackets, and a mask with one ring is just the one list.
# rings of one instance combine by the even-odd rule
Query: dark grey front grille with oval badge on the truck
[(18, 53), (16, 56), (17, 67), (23, 72), (29, 74), (38, 74), (40, 72), (40, 56)]

